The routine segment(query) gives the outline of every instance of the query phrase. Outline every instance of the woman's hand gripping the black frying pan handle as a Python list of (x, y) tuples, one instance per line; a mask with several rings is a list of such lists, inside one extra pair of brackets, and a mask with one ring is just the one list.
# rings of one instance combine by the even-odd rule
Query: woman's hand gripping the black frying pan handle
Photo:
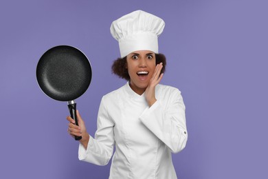
[(84, 120), (82, 120), (80, 113), (76, 110), (78, 125), (73, 118), (67, 116), (67, 120), (70, 122), (68, 125), (68, 133), (74, 138), (74, 136), (82, 136), (82, 139), (79, 142), (87, 149), (87, 144), (89, 143), (89, 134), (87, 133), (87, 129), (85, 127)]

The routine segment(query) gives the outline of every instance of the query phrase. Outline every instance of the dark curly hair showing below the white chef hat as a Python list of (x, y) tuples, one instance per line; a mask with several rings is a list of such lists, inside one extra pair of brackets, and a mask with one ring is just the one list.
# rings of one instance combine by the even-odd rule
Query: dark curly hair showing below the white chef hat
[[(156, 64), (163, 63), (161, 73), (164, 73), (166, 71), (166, 56), (164, 56), (164, 54), (155, 54), (155, 61)], [(126, 56), (113, 61), (112, 72), (127, 81), (131, 79), (126, 68)]]

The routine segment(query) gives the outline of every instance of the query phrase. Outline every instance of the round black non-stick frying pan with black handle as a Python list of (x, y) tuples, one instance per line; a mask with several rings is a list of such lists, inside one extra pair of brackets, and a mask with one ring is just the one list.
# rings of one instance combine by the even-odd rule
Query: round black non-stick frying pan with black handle
[[(50, 98), (67, 101), (71, 118), (76, 125), (75, 99), (87, 91), (92, 76), (91, 64), (87, 56), (69, 45), (50, 48), (41, 56), (36, 67), (39, 87)], [(75, 136), (76, 140), (82, 137)]]

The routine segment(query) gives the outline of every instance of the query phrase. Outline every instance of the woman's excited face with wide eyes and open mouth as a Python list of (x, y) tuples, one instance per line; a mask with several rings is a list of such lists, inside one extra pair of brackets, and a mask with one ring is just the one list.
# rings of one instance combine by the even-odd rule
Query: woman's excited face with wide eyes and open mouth
[(131, 88), (137, 94), (143, 94), (155, 72), (155, 53), (149, 50), (132, 52), (126, 56), (126, 65), (131, 77)]

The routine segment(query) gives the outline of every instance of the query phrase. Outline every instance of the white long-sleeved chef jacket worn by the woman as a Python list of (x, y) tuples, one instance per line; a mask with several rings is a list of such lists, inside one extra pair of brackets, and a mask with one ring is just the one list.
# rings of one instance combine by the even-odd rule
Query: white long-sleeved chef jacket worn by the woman
[(113, 156), (109, 179), (177, 178), (171, 152), (186, 146), (185, 105), (175, 87), (159, 84), (155, 96), (148, 107), (129, 83), (103, 96), (95, 138), (89, 136), (87, 150), (79, 145), (79, 160), (107, 165)]

